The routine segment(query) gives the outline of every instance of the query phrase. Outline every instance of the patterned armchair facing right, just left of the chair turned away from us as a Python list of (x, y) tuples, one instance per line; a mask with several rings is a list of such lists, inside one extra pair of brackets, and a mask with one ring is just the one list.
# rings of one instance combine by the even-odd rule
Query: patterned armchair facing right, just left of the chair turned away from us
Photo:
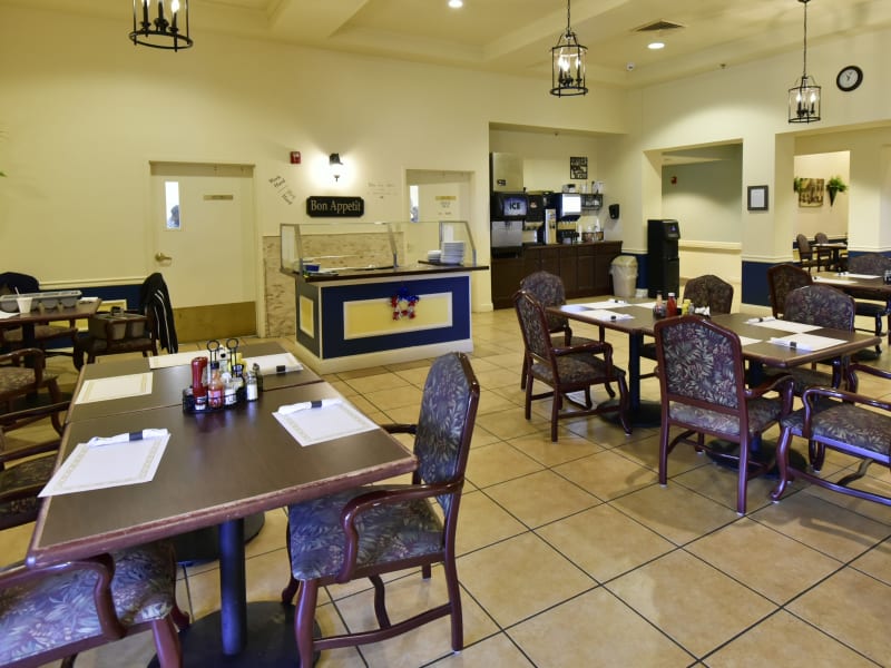
[[(550, 397), (552, 399), (551, 441), (557, 441), (558, 420), (607, 413), (618, 413), (625, 433), (631, 433), (625, 371), (613, 364), (613, 346), (606, 341), (555, 346), (548, 331), (547, 314), (541, 304), (531, 294), (521, 289), (515, 293), (513, 305), (522, 332), (526, 356), (529, 360), (526, 371), (526, 419), (531, 419), (532, 401)], [(536, 381), (550, 390), (536, 394), (533, 391)], [(595, 404), (591, 401), (591, 386), (613, 382), (619, 387), (618, 403)], [(585, 404), (580, 410), (564, 412), (565, 396), (574, 392), (584, 392)]]

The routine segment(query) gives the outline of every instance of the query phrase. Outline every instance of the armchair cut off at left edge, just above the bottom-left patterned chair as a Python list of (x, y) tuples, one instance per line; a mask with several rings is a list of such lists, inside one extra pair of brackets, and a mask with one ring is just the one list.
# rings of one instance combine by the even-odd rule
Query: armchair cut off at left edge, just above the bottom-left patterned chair
[(59, 439), (9, 446), (4, 425), (33, 422), (63, 412), (68, 402), (6, 413), (0, 420), (0, 530), (33, 522), (40, 509), (38, 494), (52, 477)]

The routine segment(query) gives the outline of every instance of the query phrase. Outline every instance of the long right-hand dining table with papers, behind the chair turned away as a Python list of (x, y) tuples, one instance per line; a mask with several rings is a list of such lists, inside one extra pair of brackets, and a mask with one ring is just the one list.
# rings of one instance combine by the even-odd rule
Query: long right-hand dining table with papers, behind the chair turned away
[[(601, 297), (596, 302), (564, 304), (547, 308), (548, 313), (621, 332), (628, 335), (628, 405), (629, 419), (634, 426), (658, 426), (662, 406), (657, 402), (640, 399), (640, 347), (644, 336), (653, 336), (658, 316), (654, 315), (653, 301), (642, 298)], [(743, 357), (754, 365), (789, 369), (810, 364), (819, 360), (850, 355), (875, 345), (878, 336), (863, 332), (820, 328), (812, 334), (825, 336), (839, 343), (822, 350), (805, 350), (772, 343), (771, 338), (782, 338), (787, 331), (772, 330), (768, 317), (757, 314), (716, 314), (711, 318), (738, 335), (746, 337)], [(751, 340), (751, 341), (750, 341)]]

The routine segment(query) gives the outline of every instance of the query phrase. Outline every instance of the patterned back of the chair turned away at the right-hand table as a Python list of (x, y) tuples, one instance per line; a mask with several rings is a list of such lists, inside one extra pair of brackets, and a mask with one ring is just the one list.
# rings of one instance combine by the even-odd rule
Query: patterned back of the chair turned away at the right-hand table
[(745, 429), (745, 383), (740, 337), (697, 315), (654, 327), (663, 402), (737, 414)]

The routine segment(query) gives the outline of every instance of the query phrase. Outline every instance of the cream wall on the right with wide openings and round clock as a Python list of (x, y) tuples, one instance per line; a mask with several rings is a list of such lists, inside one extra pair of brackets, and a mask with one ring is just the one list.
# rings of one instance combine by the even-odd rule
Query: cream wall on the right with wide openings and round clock
[[(767, 212), (748, 212), (741, 199), (734, 224), (742, 229), (742, 257), (755, 262), (790, 259), (796, 209), (790, 186), (794, 155), (817, 153), (805, 139), (822, 139), (833, 146), (822, 150), (844, 150), (849, 140), (860, 140), (863, 125), (891, 124), (891, 70), (885, 67), (887, 50), (882, 46), (889, 39), (891, 31), (851, 35), (809, 48), (809, 73), (823, 85), (823, 120), (810, 126), (791, 125), (786, 118), (786, 91), (801, 72), (800, 53), (742, 66), (730, 63), (726, 68), (716, 62), (714, 71), (631, 92), (629, 135), (617, 138), (611, 151), (620, 174), (613, 185), (614, 194), (629, 204), (623, 207), (626, 247), (645, 249), (644, 222), (663, 215), (660, 178), (654, 177), (656, 155), (741, 141), (741, 191), (750, 185), (770, 186)], [(834, 86), (835, 75), (851, 62), (862, 67), (866, 76), (856, 91), (843, 94)], [(863, 149), (860, 154), (851, 151), (851, 179), (862, 179), (856, 190), (849, 191), (852, 233), (856, 225), (878, 229), (881, 222), (881, 227), (887, 227), (879, 194), (888, 165), (882, 161), (880, 146), (873, 145), (871, 151)], [(863, 245), (889, 249), (889, 242), (887, 235), (875, 232), (866, 235)]]

